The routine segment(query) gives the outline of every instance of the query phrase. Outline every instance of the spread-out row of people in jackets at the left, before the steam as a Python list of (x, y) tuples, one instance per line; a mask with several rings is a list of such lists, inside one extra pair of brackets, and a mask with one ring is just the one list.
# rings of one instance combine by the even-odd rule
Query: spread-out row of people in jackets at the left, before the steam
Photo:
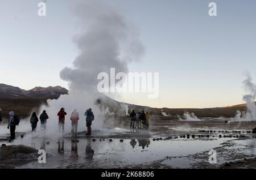
[[(2, 109), (0, 108), (0, 121), (2, 121)], [(62, 132), (64, 134), (64, 125), (65, 125), (65, 116), (67, 115), (67, 113), (65, 112), (64, 108), (61, 108), (60, 111), (57, 113), (57, 116), (59, 118), (59, 132)], [(92, 109), (89, 108), (88, 110), (86, 110), (86, 112), (84, 113), (84, 115), (86, 116), (86, 127), (87, 127), (87, 132), (85, 135), (91, 135), (92, 133), (92, 121), (94, 120), (94, 114), (92, 112)], [(43, 110), (43, 113), (40, 114), (40, 117), (38, 118), (38, 116), (36, 115), (36, 112), (33, 112), (30, 118), (30, 123), (31, 123), (31, 128), (32, 128), (32, 132), (36, 131), (36, 127), (38, 125), (40, 119), (40, 124), (41, 124), (41, 130), (42, 131), (46, 131), (46, 123), (47, 123), (47, 119), (49, 119), (48, 114), (46, 113), (46, 110)], [(73, 136), (77, 136), (77, 126), (78, 126), (78, 121), (79, 121), (79, 112), (77, 112), (77, 110), (75, 109), (70, 117), (71, 120), (71, 134)], [(19, 118), (14, 115), (14, 112), (11, 111), (9, 113), (9, 121), (8, 121), (8, 126), (7, 128), (10, 128), (10, 134), (11, 134), (11, 138), (10, 141), (15, 139), (15, 128), (16, 126), (19, 125)]]

